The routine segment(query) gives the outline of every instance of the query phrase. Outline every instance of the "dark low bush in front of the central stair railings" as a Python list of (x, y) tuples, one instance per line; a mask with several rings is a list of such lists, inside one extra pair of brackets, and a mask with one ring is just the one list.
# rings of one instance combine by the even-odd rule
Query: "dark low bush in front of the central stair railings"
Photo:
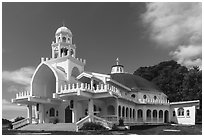
[(100, 123), (86, 122), (80, 130), (106, 130)]

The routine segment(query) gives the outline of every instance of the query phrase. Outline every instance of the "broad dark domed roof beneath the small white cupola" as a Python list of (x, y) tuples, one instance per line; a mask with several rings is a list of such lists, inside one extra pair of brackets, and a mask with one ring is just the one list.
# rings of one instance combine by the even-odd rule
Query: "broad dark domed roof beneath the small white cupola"
[(113, 80), (129, 87), (132, 90), (144, 89), (150, 92), (161, 92), (161, 90), (156, 85), (137, 75), (129, 73), (114, 73), (110, 74), (110, 76)]

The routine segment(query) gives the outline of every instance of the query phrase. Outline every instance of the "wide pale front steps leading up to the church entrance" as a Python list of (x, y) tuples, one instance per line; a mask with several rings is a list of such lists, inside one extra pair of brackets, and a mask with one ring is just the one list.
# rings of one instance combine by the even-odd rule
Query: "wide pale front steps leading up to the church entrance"
[(42, 124), (29, 124), (19, 130), (27, 131), (77, 131), (75, 123), (42, 123)]

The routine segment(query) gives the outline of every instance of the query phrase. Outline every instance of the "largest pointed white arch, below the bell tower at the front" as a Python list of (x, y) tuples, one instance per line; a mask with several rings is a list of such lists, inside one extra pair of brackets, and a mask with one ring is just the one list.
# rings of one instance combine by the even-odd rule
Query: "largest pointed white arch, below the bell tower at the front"
[(31, 95), (52, 97), (57, 89), (56, 81), (58, 77), (55, 70), (45, 63), (40, 64), (31, 80)]

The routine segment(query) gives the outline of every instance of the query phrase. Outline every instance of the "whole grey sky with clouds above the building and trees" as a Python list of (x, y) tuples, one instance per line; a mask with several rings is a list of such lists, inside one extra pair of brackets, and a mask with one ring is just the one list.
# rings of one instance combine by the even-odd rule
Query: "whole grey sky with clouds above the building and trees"
[(26, 116), (25, 107), (10, 101), (29, 90), (63, 24), (72, 31), (76, 56), (86, 59), (85, 71), (109, 74), (117, 57), (128, 73), (172, 59), (201, 66), (201, 3), (3, 2), (3, 118)]

